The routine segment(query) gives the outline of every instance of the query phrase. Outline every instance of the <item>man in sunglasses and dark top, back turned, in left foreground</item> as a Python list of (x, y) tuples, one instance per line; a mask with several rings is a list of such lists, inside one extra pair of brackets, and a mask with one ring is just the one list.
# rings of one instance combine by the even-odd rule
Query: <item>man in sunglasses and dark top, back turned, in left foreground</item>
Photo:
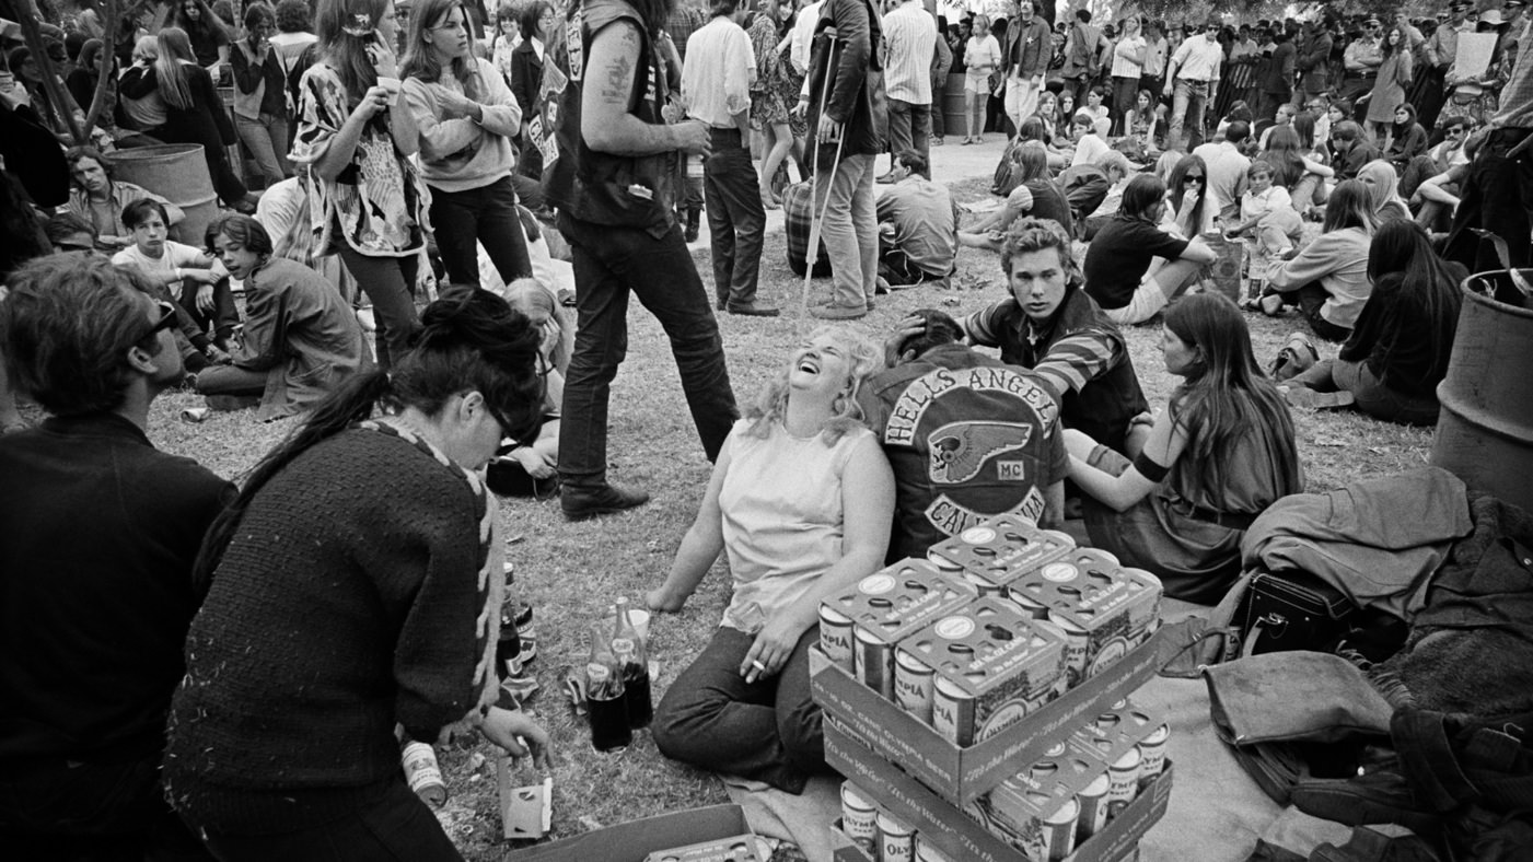
[(159, 759), (192, 563), (235, 486), (144, 434), (182, 376), (175, 307), (95, 255), (9, 284), (0, 353), (49, 419), (0, 437), (0, 842), (17, 859), (207, 859)]

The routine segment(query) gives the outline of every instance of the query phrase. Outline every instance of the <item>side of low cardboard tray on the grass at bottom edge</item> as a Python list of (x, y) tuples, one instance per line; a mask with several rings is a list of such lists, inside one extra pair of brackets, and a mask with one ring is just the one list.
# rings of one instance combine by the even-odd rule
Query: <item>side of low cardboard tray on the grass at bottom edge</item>
[(671, 850), (702, 841), (751, 834), (739, 805), (711, 805), (630, 821), (604, 830), (512, 850), (504, 862), (644, 862), (656, 850)]

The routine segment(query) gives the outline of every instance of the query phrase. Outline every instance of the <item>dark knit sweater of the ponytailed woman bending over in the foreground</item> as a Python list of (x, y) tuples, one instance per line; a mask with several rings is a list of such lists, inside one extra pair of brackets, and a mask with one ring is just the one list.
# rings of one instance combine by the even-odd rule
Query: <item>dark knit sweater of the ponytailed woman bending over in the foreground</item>
[(397, 781), (394, 724), (435, 739), (486, 678), (487, 506), (461, 468), (392, 431), (345, 431), (271, 477), (187, 637), (172, 804), (261, 834)]

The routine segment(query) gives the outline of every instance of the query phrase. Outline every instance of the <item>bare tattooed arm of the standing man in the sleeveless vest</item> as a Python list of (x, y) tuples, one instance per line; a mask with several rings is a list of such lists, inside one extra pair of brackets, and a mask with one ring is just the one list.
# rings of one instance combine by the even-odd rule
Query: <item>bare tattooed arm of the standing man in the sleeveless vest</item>
[(586, 89), (581, 92), (581, 137), (586, 146), (613, 155), (671, 150), (705, 155), (708, 127), (702, 123), (655, 126), (629, 112), (633, 107), (639, 44), (639, 28), (625, 20), (607, 25), (592, 38)]

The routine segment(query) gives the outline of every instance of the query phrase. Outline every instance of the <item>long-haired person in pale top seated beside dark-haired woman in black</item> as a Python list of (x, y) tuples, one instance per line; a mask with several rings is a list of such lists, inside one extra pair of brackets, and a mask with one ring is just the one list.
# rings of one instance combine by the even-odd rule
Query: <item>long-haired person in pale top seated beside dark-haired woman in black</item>
[(1367, 187), (1357, 179), (1338, 184), (1326, 201), (1320, 236), (1268, 267), (1262, 310), (1275, 314), (1285, 302), (1295, 304), (1317, 336), (1346, 341), (1367, 302), (1367, 250), (1377, 224)]

